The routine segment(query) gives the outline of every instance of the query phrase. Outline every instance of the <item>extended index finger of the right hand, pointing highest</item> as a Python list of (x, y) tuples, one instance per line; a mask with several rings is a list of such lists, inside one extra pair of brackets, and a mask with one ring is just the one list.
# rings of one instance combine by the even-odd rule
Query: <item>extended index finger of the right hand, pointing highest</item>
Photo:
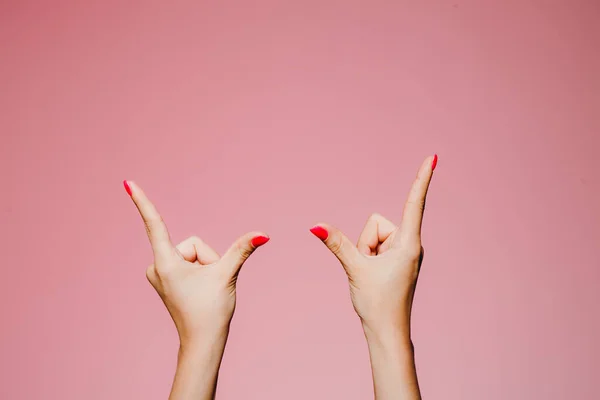
[(423, 212), (425, 211), (425, 199), (436, 164), (437, 155), (427, 157), (417, 173), (417, 178), (412, 185), (408, 200), (404, 205), (402, 225), (400, 226), (400, 241), (406, 242), (411, 239), (420, 239)]

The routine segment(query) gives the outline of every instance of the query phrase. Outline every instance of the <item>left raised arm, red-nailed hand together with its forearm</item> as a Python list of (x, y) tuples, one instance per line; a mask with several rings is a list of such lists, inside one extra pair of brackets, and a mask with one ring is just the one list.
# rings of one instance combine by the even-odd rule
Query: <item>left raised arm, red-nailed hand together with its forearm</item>
[(223, 257), (195, 236), (174, 246), (140, 187), (131, 181), (123, 184), (142, 216), (154, 253), (146, 276), (179, 334), (179, 363), (170, 398), (211, 399), (235, 310), (238, 273), (269, 237), (261, 232), (243, 235)]

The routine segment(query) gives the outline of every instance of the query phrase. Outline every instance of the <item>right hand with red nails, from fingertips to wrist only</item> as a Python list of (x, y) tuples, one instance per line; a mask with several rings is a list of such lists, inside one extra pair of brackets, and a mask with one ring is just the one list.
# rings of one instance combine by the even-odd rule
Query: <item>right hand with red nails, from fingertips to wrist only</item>
[(410, 312), (423, 259), (421, 222), (436, 163), (437, 156), (428, 157), (419, 169), (400, 227), (373, 214), (356, 246), (331, 225), (311, 229), (342, 263), (352, 304), (366, 331), (400, 329), (410, 337)]

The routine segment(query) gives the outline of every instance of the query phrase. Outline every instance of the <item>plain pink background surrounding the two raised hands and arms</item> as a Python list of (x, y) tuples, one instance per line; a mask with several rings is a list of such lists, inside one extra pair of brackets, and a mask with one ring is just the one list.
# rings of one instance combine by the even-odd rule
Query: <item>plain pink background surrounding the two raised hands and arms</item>
[(426, 399), (600, 398), (600, 5), (0, 3), (2, 399), (165, 399), (177, 340), (123, 179), (247, 263), (220, 399), (372, 397), (310, 233), (396, 221), (437, 152)]

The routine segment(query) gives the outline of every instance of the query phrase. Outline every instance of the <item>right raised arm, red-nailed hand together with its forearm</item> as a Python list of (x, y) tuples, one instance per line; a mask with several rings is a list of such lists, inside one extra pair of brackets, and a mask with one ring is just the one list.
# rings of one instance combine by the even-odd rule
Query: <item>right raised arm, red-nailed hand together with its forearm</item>
[[(373, 214), (356, 246), (331, 225), (318, 224), (311, 229), (348, 276), (352, 304), (369, 344), (379, 400), (420, 398), (412, 361), (410, 314), (423, 260), (425, 198), (436, 164), (437, 156), (433, 156), (421, 165), (400, 226)], [(398, 358), (392, 359), (393, 354)]]

